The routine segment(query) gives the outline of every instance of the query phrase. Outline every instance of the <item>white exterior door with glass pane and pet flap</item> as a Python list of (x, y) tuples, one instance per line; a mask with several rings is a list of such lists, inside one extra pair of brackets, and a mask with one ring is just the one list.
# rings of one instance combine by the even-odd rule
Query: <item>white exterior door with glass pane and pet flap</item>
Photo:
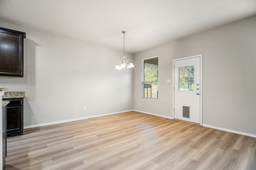
[(174, 119), (202, 125), (202, 55), (173, 60)]

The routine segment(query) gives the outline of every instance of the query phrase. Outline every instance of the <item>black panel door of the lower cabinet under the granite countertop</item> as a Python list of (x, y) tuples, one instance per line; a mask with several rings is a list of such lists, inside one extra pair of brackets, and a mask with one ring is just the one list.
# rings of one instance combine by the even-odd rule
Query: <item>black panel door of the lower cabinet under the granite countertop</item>
[(7, 107), (7, 133), (22, 130), (22, 107)]

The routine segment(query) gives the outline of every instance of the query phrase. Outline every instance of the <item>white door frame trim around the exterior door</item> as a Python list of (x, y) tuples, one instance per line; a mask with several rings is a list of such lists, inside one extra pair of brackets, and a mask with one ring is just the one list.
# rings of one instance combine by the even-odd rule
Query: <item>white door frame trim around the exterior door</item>
[[(199, 54), (199, 55), (193, 55), (193, 56), (189, 56), (189, 57), (183, 57), (183, 58), (179, 58), (179, 59), (173, 59), (172, 60), (172, 116), (174, 119), (174, 62), (175, 61), (179, 61), (179, 60), (186, 60), (186, 59), (192, 59), (195, 57), (200, 57), (200, 125), (202, 125), (202, 117), (203, 117), (203, 55)], [(178, 88), (178, 87), (176, 87)]]

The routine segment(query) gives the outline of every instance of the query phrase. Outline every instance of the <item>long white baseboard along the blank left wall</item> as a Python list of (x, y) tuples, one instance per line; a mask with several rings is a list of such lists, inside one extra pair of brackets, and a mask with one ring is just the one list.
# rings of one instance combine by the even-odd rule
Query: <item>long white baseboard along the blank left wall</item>
[(49, 122), (49, 123), (40, 123), (40, 124), (37, 124), (37, 125), (25, 126), (24, 129), (28, 129), (28, 128), (32, 128), (32, 127), (46, 126), (46, 125), (54, 125), (54, 124), (58, 124), (58, 123), (65, 123), (65, 122), (69, 122), (69, 121), (76, 121), (76, 120), (82, 120), (82, 119), (89, 119), (89, 118), (100, 117), (100, 116), (106, 116), (106, 115), (114, 115), (114, 114), (124, 113), (124, 112), (128, 112), (128, 111), (133, 111), (133, 110), (124, 110), (124, 111), (118, 111), (118, 112), (112, 112), (112, 113), (105, 113), (105, 114), (100, 114), (100, 115), (93, 115), (93, 116), (87, 116), (87, 117), (79, 117), (79, 118), (75, 118), (75, 119), (67, 119), (67, 120), (61, 120), (61, 121), (53, 121), (53, 122)]

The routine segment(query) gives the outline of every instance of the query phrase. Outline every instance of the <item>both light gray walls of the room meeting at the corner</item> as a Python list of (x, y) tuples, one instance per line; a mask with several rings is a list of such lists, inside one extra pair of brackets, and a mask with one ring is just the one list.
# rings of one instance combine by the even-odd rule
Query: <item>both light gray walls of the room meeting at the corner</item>
[[(126, 70), (113, 69), (122, 51), (1, 21), (0, 27), (27, 34), (24, 78), (0, 77), (1, 87), (26, 92), (25, 126), (130, 109), (172, 117), (172, 60), (203, 54), (203, 123), (256, 134), (256, 16), (136, 53), (135, 67)], [(141, 59), (154, 55), (159, 99), (141, 99)]]

